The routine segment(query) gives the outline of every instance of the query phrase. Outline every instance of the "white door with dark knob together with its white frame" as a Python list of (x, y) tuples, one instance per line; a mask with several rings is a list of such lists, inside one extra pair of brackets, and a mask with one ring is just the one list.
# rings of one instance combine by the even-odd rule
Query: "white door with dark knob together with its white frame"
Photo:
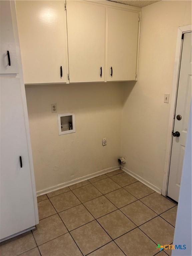
[(162, 189), (162, 195), (172, 199), (174, 202), (178, 202), (179, 199), (191, 106), (191, 34), (191, 26), (179, 28)]

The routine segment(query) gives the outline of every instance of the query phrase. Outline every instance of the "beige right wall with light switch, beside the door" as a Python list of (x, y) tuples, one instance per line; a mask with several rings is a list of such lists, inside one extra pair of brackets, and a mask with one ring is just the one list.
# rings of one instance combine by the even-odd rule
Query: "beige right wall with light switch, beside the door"
[(162, 188), (177, 30), (191, 24), (191, 1), (142, 8), (139, 78), (124, 86), (121, 154), (125, 167)]

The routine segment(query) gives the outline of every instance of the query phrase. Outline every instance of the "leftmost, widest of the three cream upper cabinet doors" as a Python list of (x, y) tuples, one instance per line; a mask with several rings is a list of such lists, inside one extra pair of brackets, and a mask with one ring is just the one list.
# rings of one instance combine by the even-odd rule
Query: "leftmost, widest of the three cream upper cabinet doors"
[(67, 81), (64, 4), (64, 1), (16, 1), (25, 84)]

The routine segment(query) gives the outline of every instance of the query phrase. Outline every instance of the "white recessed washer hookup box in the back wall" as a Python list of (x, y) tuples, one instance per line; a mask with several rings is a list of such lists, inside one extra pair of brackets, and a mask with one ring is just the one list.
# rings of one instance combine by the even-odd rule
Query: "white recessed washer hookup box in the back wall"
[(75, 114), (58, 114), (59, 135), (75, 132)]

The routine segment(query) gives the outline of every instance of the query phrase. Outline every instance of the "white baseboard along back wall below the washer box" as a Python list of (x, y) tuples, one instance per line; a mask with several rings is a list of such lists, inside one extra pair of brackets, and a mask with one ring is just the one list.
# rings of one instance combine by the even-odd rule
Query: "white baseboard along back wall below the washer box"
[(67, 182), (64, 182), (64, 183), (61, 183), (61, 184), (57, 184), (57, 185), (55, 185), (53, 187), (49, 187), (49, 188), (37, 191), (37, 196), (42, 196), (42, 195), (45, 195), (47, 193), (56, 191), (58, 189), (65, 188), (65, 187), (74, 185), (76, 183), (82, 182), (84, 180), (88, 180), (88, 179), (97, 177), (97, 176), (99, 176), (101, 174), (112, 172), (112, 171), (115, 171), (115, 170), (118, 170), (118, 169), (120, 169), (120, 165), (114, 166), (114, 167), (110, 167), (110, 168), (107, 168), (107, 169), (104, 169), (104, 170), (101, 170), (101, 171), (98, 171), (98, 172), (94, 172), (92, 174), (88, 174), (86, 176), (83, 176), (83, 177), (80, 177), (80, 178), (77, 178), (77, 179), (74, 179), (74, 180), (70, 180), (70, 181), (67, 181)]

